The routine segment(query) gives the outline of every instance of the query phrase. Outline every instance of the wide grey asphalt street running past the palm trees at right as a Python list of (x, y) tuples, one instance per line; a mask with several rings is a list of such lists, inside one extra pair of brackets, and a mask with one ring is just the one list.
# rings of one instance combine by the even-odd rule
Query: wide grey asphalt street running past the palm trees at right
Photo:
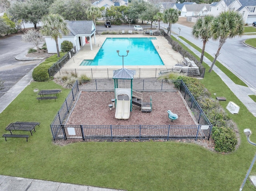
[[(172, 31), (176, 33), (172, 33), (172, 35), (177, 36), (179, 34), (178, 28), (181, 28), (180, 36), (202, 48), (202, 39), (195, 39), (192, 36), (192, 28), (180, 24), (172, 24)], [(256, 90), (256, 49), (248, 47), (243, 43), (244, 40), (249, 38), (256, 38), (256, 35), (243, 35), (242, 37), (227, 39), (226, 43), (224, 43), (220, 49), (218, 60), (236, 74), (249, 87), (252, 86)], [(219, 41), (213, 41), (210, 39), (206, 44), (206, 52), (214, 57), (214, 54), (218, 49), (218, 43)]]

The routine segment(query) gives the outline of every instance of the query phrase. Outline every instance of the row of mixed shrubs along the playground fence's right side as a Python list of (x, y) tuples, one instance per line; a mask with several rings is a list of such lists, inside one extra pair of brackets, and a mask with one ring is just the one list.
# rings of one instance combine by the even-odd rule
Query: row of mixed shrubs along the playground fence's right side
[(186, 84), (212, 123), (211, 136), (215, 143), (214, 149), (218, 152), (234, 151), (238, 143), (238, 138), (234, 132), (235, 124), (223, 110), (218, 100), (210, 97), (210, 92), (198, 79), (186, 76), (180, 76), (177, 79), (182, 79)]

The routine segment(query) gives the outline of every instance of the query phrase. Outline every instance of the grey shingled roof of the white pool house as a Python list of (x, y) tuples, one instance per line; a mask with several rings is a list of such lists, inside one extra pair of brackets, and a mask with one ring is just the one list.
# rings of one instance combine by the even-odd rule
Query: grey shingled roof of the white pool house
[(91, 35), (95, 31), (93, 21), (66, 21), (70, 33), (67, 36)]

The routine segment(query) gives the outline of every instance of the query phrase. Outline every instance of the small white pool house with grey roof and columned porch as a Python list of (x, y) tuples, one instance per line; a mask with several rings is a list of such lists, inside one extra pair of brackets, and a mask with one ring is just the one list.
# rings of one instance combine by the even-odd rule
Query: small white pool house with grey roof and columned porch
[[(86, 41), (90, 41), (90, 47), (92, 50), (92, 35), (94, 35), (94, 44), (96, 45), (95, 32), (96, 28), (93, 21), (66, 21), (67, 27), (70, 33), (62, 38), (58, 37), (58, 45), (64, 40), (68, 40), (76, 46), (76, 51), (80, 50), (80, 47), (86, 44)], [(57, 53), (56, 43), (52, 37), (44, 36), (48, 53)]]

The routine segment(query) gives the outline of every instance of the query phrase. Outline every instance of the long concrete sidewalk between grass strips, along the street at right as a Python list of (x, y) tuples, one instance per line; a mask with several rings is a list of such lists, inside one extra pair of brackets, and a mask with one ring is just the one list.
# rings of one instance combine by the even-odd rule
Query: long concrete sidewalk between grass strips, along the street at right
[[(178, 39), (178, 36), (174, 36)], [(201, 57), (201, 53), (190, 46), (188, 43), (179, 39), (186, 47), (192, 50), (199, 58)], [(204, 57), (204, 62), (208, 64), (208, 66), (212, 65), (212, 62)], [(224, 63), (222, 63), (224, 65)], [(213, 67), (214, 72), (224, 81), (224, 83), (230, 88), (230, 90), (237, 96), (237, 98), (246, 106), (246, 108), (256, 117), (256, 102), (252, 100), (248, 95), (255, 95), (256, 90), (253, 87), (244, 87), (241, 85), (236, 85), (225, 73), (223, 73), (216, 65)]]

